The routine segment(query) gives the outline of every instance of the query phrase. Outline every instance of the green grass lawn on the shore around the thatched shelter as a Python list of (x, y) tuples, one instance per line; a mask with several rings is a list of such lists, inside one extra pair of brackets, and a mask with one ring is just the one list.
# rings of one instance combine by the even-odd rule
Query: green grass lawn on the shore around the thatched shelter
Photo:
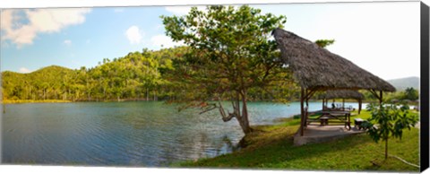
[[(354, 117), (367, 118), (362, 110)], [(211, 159), (176, 164), (188, 168), (239, 168), (282, 170), (385, 170), (418, 172), (416, 167), (389, 157), (384, 160), (384, 144), (374, 143), (369, 135), (349, 137), (322, 144), (293, 145), (299, 119), (286, 118), (275, 126), (255, 126), (254, 133), (245, 137), (247, 146), (238, 151)], [(401, 140), (391, 138), (388, 152), (405, 161), (419, 165), (419, 129), (403, 133)]]

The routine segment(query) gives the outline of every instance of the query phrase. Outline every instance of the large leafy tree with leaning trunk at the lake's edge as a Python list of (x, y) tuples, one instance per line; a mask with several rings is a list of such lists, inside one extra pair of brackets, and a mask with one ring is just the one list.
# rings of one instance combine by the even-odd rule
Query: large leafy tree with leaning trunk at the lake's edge
[[(261, 14), (247, 5), (237, 9), (212, 5), (206, 11), (193, 7), (185, 16), (161, 18), (166, 34), (190, 47), (183, 60), (176, 60), (180, 78), (176, 80), (191, 100), (188, 106), (201, 107), (202, 113), (219, 109), (223, 121), (236, 117), (245, 134), (252, 132), (248, 92), (279, 87), (289, 78), (276, 42), (270, 39), (271, 31), (282, 28), (286, 17)], [(233, 112), (226, 113), (221, 100), (230, 100)]]

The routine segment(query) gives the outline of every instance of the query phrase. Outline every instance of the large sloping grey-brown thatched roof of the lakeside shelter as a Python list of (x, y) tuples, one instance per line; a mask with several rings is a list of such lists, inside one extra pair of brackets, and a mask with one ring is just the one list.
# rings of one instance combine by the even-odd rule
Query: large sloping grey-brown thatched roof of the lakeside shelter
[(297, 83), (306, 89), (395, 91), (390, 83), (312, 41), (281, 29), (272, 34), (281, 58), (292, 69)]

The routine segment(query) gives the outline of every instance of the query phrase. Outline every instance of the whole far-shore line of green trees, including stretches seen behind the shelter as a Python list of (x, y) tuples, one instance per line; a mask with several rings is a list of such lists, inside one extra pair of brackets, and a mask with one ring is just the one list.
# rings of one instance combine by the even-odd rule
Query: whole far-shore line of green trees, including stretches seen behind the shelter
[[(51, 65), (38, 71), (21, 74), (2, 72), (3, 100), (182, 100), (196, 95), (194, 84), (185, 84), (186, 74), (179, 70), (184, 61), (186, 47), (164, 48), (158, 51), (142, 49), (125, 57), (110, 60), (104, 58), (99, 65), (80, 69), (69, 69)], [(180, 83), (180, 82), (183, 83)], [(291, 87), (293, 86), (293, 87)], [(300, 96), (297, 84), (289, 85), (282, 95), (287, 100)], [(186, 90), (188, 88), (188, 90)], [(271, 89), (274, 90), (274, 89)], [(375, 100), (368, 91), (360, 91), (365, 100)], [(273, 92), (251, 89), (249, 100), (275, 100)], [(318, 99), (315, 94), (314, 100)], [(417, 100), (418, 91), (412, 87), (405, 91), (384, 94), (387, 102)]]

